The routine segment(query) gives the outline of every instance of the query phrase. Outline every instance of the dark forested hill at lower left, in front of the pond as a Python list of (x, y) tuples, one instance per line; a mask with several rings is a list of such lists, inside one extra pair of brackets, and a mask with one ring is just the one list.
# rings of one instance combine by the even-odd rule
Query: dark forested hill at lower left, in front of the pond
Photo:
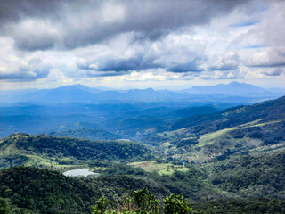
[(23, 166), (1, 170), (0, 184), (0, 204), (3, 198), (8, 201), (7, 207), (12, 203), (12, 212), (0, 210), (1, 213), (90, 213), (90, 206), (103, 195), (116, 202), (116, 195), (124, 193), (120, 189), (147, 187), (159, 197), (169, 193), (153, 180), (127, 176), (65, 177), (57, 171)]

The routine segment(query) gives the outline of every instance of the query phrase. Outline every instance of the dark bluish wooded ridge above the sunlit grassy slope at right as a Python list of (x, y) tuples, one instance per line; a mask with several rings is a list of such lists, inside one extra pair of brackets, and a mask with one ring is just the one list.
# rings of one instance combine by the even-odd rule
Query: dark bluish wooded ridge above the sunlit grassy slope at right
[(172, 129), (195, 127), (197, 131), (207, 133), (223, 128), (232, 128), (257, 119), (260, 119), (260, 122), (285, 119), (285, 96), (263, 103), (234, 107), (209, 115), (178, 119), (172, 125)]

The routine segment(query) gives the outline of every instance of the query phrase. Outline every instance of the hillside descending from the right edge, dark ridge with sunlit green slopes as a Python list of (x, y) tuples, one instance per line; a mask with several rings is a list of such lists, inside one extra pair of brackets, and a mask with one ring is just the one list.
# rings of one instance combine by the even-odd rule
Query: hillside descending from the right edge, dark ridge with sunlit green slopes
[[(181, 125), (181, 126), (180, 126)], [(168, 157), (193, 163), (285, 148), (285, 97), (178, 120), (143, 142), (159, 145)]]

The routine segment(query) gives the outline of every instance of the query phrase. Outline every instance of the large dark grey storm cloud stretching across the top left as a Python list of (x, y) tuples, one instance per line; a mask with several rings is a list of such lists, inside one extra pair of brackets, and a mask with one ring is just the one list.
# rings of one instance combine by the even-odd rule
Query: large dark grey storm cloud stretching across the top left
[[(157, 39), (184, 26), (208, 23), (247, 0), (1, 1), (1, 33), (21, 50), (76, 48), (120, 33)], [(29, 21), (29, 22), (28, 22)]]

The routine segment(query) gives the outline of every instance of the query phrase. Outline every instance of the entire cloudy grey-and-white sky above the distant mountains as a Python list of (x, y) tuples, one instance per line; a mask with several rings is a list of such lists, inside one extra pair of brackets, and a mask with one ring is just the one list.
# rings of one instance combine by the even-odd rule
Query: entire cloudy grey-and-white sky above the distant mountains
[(283, 0), (0, 1), (0, 90), (285, 87)]

